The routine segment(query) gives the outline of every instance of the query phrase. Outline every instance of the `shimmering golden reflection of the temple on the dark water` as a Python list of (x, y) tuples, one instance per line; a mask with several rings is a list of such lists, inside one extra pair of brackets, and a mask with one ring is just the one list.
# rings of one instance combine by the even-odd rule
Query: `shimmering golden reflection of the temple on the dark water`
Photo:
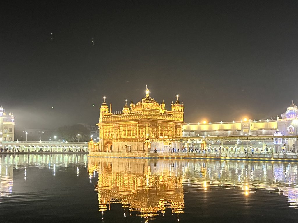
[(88, 170), (90, 177), (98, 172), (100, 211), (122, 203), (145, 218), (166, 208), (183, 213), (182, 167), (172, 160), (89, 158)]

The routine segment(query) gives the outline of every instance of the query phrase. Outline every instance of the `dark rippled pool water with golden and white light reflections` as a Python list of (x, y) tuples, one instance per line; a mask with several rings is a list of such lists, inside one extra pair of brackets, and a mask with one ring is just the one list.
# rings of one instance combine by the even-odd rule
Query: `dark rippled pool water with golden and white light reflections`
[(0, 156), (0, 222), (297, 222), (298, 163)]

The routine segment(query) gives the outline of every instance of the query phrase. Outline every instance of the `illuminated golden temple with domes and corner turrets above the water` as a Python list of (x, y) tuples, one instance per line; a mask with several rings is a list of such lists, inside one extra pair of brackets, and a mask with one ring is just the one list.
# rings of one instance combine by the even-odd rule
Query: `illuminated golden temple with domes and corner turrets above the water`
[[(168, 151), (171, 147), (182, 146), (176, 139), (182, 136), (184, 105), (176, 101), (171, 104), (171, 111), (165, 109), (164, 100), (156, 102), (149, 95), (139, 102), (127, 100), (121, 112), (111, 112), (104, 101), (100, 107), (99, 142), (92, 148), (94, 152), (144, 152), (145, 141), (148, 143), (147, 152)], [(181, 145), (180, 145), (181, 144)]]

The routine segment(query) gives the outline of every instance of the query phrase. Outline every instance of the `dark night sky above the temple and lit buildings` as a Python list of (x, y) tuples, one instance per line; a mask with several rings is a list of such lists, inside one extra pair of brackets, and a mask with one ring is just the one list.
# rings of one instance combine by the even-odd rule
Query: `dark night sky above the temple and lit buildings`
[(298, 1), (4, 1), (0, 12), (0, 103), (19, 127), (95, 124), (104, 95), (119, 111), (146, 84), (167, 109), (179, 94), (185, 122), (298, 104)]

